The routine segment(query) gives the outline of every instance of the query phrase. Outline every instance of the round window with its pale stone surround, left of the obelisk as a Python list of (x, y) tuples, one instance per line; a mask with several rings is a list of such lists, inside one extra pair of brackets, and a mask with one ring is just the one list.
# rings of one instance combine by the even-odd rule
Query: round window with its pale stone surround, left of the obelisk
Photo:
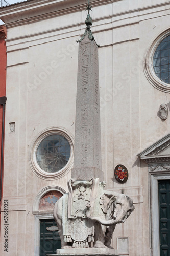
[(73, 137), (59, 127), (42, 131), (32, 143), (29, 163), (39, 178), (57, 179), (68, 173), (73, 166)]

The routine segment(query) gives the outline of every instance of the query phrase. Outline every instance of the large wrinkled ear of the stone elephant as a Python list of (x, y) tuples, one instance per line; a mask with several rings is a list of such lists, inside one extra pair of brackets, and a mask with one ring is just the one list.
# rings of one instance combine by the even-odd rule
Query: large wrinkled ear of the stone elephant
[(111, 204), (116, 200), (116, 196), (113, 194), (106, 194), (104, 193), (100, 197), (100, 205), (101, 209), (103, 210), (104, 214), (107, 214), (108, 209), (110, 208)]

